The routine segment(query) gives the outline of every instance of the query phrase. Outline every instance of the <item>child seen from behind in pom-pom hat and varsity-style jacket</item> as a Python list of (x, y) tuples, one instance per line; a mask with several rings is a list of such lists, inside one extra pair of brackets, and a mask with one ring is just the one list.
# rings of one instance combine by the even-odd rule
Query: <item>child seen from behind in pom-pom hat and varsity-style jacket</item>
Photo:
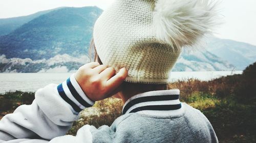
[[(6, 115), (0, 142), (218, 142), (206, 117), (166, 90), (182, 47), (209, 33), (215, 17), (215, 4), (203, 0), (115, 1), (94, 25), (98, 61)], [(82, 109), (113, 95), (124, 106), (110, 127), (65, 135)]]

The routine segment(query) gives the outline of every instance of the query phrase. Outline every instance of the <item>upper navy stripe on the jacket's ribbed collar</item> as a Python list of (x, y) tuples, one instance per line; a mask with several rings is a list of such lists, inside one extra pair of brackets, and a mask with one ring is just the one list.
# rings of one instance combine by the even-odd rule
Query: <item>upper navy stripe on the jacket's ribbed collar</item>
[(123, 112), (126, 112), (133, 105), (141, 103), (141, 102), (177, 100), (177, 99), (179, 99), (179, 96), (180, 95), (158, 95), (158, 96), (155, 95), (155, 96), (139, 97), (139, 98), (133, 99), (129, 103), (127, 103), (123, 108)]

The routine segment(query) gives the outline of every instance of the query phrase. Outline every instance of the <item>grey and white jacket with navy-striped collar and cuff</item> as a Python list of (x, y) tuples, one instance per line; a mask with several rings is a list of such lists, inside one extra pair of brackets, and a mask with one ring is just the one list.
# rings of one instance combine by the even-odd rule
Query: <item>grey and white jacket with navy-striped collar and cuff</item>
[(179, 101), (179, 90), (138, 94), (109, 126), (85, 125), (65, 135), (78, 112), (94, 104), (74, 76), (35, 93), (31, 105), (19, 106), (0, 121), (0, 142), (218, 142), (207, 118)]

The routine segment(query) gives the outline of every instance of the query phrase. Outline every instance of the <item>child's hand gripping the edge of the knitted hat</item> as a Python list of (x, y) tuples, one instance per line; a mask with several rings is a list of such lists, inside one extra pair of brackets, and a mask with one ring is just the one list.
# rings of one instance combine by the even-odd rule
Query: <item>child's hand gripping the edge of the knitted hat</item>
[(125, 68), (115, 74), (115, 69), (97, 62), (81, 66), (75, 79), (83, 92), (93, 101), (109, 98), (119, 92), (119, 86), (127, 76)]

